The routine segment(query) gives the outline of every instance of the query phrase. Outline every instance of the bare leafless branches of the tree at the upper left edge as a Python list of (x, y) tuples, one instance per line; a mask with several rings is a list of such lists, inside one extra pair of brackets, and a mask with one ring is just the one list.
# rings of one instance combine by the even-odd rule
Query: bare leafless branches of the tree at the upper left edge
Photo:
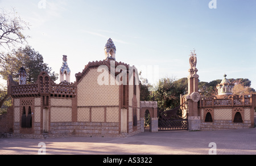
[(11, 12), (0, 9), (0, 62), (10, 60), (5, 54), (6, 50), (26, 42), (29, 36), (23, 35), (24, 29), (30, 29), (29, 24), (14, 9)]

